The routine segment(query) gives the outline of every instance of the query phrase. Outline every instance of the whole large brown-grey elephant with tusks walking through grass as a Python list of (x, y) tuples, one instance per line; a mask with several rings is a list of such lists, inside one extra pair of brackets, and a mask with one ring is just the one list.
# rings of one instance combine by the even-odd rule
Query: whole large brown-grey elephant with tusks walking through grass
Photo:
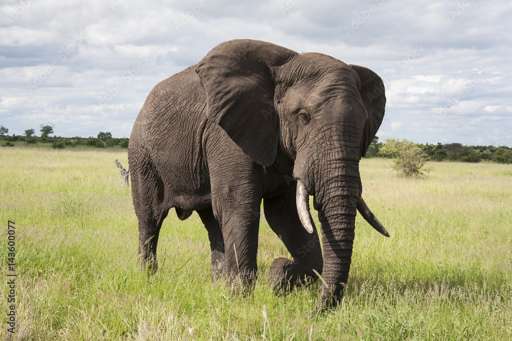
[(366, 67), (250, 39), (223, 42), (161, 81), (128, 147), (142, 265), (157, 269), (169, 210), (181, 220), (196, 211), (208, 233), (211, 274), (250, 288), (263, 201), (270, 229), (292, 258), (271, 263), (271, 285), (287, 289), (322, 277), (314, 311), (335, 309), (349, 275), (356, 212), (389, 237), (361, 197), (359, 176), (385, 105), (383, 82)]

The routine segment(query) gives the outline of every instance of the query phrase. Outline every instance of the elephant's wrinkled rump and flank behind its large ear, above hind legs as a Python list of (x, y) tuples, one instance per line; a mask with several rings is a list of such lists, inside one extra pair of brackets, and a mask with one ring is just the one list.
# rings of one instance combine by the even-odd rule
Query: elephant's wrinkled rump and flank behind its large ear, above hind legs
[(129, 146), (129, 159), (135, 164), (151, 163), (164, 183), (166, 196), (178, 207), (174, 201), (183, 193), (203, 197), (209, 192), (202, 148), (206, 95), (195, 67), (151, 90), (135, 121)]

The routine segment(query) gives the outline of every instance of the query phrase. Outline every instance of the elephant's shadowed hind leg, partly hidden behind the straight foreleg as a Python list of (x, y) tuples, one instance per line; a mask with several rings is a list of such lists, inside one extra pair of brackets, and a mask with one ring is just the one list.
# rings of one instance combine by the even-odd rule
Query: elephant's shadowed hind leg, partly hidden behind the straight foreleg
[(210, 273), (211, 276), (215, 278), (222, 274), (226, 267), (224, 262), (224, 239), (222, 237), (222, 231), (211, 207), (197, 211), (197, 213), (208, 231), (211, 250)]

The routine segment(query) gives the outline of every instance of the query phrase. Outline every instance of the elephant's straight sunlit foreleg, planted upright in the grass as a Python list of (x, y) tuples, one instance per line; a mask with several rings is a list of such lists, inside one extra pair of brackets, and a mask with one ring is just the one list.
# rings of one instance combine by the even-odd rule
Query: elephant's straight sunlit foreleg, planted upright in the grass
[[(220, 128), (216, 128), (220, 129)], [(263, 171), (223, 130), (206, 143), (211, 206), (224, 238), (226, 273), (242, 290), (257, 278)], [(213, 142), (213, 143), (212, 143)], [(240, 288), (238, 285), (236, 289)]]

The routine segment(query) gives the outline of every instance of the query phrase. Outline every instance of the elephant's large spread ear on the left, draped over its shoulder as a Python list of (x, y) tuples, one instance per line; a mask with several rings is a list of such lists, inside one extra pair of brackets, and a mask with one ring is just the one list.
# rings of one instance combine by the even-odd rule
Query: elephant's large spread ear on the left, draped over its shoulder
[(270, 166), (279, 141), (273, 72), (295, 52), (257, 40), (223, 42), (198, 63), (207, 118), (254, 161)]

